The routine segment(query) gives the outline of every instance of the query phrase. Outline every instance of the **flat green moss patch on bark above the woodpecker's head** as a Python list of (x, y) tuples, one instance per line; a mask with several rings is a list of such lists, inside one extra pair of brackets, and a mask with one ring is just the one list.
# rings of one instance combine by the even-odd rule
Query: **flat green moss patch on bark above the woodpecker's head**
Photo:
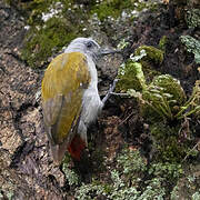
[[(150, 7), (138, 0), (103, 0), (98, 3), (94, 0), (87, 3), (79, 0), (33, 0), (20, 1), (19, 4), (20, 10), (27, 13), (27, 22), (30, 26), (23, 42), (22, 59), (33, 68), (43, 66), (50, 56), (67, 46), (73, 38), (89, 37), (93, 30), (88, 26), (88, 20), (94, 13), (102, 22), (108, 16), (118, 18), (122, 10), (129, 12)], [(48, 21), (43, 21), (42, 17), (52, 13), (52, 10), (57, 11), (56, 14), (52, 14)], [(83, 28), (87, 28), (87, 31), (82, 31)], [(107, 32), (111, 32), (110, 26), (108, 29)]]

